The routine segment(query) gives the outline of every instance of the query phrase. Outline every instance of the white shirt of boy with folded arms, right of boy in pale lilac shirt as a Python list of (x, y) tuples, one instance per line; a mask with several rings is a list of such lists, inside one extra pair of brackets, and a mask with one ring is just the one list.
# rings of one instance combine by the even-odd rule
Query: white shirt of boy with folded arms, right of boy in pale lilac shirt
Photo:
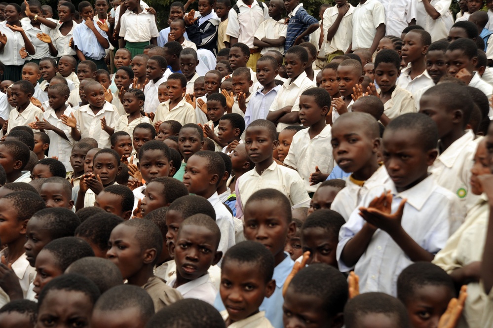
[[(293, 106), (291, 111), (300, 111), (300, 96), (306, 89), (314, 88), (316, 83), (306, 76), (303, 71), (292, 83), (288, 78), (277, 93), (269, 111), (275, 111), (286, 106)], [(277, 132), (281, 132), (285, 127), (293, 124), (277, 123)], [(297, 125), (297, 124), (295, 124)]]

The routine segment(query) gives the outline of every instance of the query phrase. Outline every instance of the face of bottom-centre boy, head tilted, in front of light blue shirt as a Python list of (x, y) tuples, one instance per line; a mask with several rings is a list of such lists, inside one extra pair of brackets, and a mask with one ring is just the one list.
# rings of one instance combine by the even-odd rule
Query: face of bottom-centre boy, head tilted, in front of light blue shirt
[(265, 282), (254, 263), (230, 259), (221, 270), (219, 292), (231, 322), (240, 321), (259, 311), (265, 297), (272, 295), (274, 281)]

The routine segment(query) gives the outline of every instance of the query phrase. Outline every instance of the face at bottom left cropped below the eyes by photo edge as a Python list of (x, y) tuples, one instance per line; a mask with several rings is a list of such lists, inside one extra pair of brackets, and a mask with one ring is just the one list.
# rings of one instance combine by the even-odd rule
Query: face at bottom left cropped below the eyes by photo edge
[(90, 327), (94, 304), (87, 294), (78, 291), (51, 290), (46, 293), (38, 309), (36, 327)]

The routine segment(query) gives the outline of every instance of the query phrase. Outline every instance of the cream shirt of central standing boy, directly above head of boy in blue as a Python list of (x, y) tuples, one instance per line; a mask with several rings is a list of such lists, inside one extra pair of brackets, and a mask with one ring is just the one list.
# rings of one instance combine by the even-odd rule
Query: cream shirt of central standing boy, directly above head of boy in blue
[(239, 198), (238, 195), (241, 194), (242, 208), (245, 208), (248, 198), (254, 192), (265, 188), (273, 188), (285, 194), (294, 209), (310, 205), (310, 197), (298, 172), (273, 162), (262, 175), (254, 169), (238, 178), (236, 197)]

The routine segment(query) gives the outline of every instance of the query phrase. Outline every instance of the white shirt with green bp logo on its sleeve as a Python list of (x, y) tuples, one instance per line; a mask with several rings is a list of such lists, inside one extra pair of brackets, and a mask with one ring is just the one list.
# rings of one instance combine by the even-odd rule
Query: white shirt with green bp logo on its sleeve
[[(478, 197), (470, 192), (471, 168), (478, 146), (474, 142), (475, 137), (472, 130), (467, 130), (428, 167), (428, 172), (433, 174), (436, 182), (454, 193), (464, 210), (469, 210), (478, 200)], [(453, 231), (461, 223), (462, 220), (457, 222)]]

